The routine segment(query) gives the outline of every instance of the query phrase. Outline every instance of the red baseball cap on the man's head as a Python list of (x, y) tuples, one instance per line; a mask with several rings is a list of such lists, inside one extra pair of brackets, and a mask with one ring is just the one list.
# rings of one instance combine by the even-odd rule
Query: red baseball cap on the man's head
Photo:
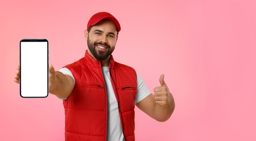
[(121, 26), (120, 26), (119, 22), (117, 21), (117, 19), (113, 15), (109, 14), (108, 12), (98, 12), (97, 14), (94, 14), (88, 21), (87, 29), (89, 29), (89, 27), (97, 24), (98, 22), (100, 22), (102, 20), (108, 20), (108, 21), (113, 22), (116, 25), (117, 30), (118, 31), (121, 30)]

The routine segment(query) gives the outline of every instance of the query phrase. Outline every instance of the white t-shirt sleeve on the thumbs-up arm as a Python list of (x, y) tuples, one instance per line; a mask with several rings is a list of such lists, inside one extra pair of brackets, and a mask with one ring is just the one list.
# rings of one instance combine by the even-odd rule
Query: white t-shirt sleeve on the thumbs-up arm
[(140, 78), (139, 74), (137, 73), (137, 94), (135, 98), (135, 104), (137, 102), (143, 100), (144, 98), (148, 97), (151, 92), (149, 91), (148, 87), (146, 87), (142, 78)]

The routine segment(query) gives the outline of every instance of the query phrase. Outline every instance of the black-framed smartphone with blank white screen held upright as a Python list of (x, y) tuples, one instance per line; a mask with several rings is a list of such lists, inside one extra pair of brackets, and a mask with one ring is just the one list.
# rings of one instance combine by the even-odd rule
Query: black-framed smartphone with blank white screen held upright
[(20, 95), (46, 98), (49, 93), (49, 47), (46, 39), (20, 41)]

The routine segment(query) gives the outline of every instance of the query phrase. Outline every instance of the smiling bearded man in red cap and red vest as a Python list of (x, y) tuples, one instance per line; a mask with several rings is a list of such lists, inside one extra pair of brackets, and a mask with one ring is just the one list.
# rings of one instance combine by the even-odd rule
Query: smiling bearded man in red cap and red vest
[[(174, 111), (164, 75), (151, 94), (133, 68), (113, 60), (120, 30), (114, 16), (99, 12), (85, 30), (85, 57), (59, 71), (49, 65), (49, 92), (65, 107), (66, 140), (135, 140), (135, 105), (157, 121)], [(20, 67), (14, 81), (20, 82)]]

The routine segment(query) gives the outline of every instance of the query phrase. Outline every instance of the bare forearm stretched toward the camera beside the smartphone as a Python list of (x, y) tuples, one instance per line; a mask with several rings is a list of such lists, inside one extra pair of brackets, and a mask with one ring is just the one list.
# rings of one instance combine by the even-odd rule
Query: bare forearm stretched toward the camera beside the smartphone
[(50, 81), (49, 92), (58, 98), (67, 98), (71, 94), (74, 84), (67, 75), (57, 71), (55, 74), (54, 79)]

